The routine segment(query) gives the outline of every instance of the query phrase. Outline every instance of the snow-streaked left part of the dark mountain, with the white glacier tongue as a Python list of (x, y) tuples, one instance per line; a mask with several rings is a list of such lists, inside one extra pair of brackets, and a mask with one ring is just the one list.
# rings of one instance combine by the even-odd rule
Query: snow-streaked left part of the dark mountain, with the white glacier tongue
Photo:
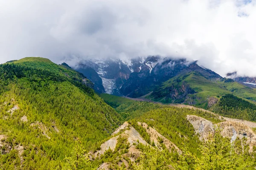
[[(96, 84), (96, 91), (118, 95), (120, 94), (119, 89), (129, 79), (131, 73), (139, 73), (141, 70), (148, 70), (151, 73), (159, 59), (160, 57), (105, 60), (86, 59), (79, 63), (76, 70), (87, 75)], [(95, 74), (92, 76), (93, 70), (98, 76)]]

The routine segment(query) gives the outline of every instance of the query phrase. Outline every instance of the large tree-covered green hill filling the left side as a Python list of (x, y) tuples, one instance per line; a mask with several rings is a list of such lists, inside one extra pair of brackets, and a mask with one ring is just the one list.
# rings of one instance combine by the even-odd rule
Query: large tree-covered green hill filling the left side
[(76, 141), (96, 150), (111, 135), (119, 115), (83, 79), (44, 58), (0, 65), (0, 169), (61, 169)]

